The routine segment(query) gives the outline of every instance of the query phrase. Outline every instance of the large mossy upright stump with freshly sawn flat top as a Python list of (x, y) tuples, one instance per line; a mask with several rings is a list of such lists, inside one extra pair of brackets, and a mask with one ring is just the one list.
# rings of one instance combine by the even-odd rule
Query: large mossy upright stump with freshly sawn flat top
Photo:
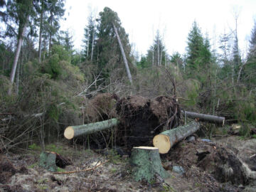
[(154, 178), (166, 178), (169, 174), (164, 170), (159, 156), (159, 149), (152, 146), (139, 146), (132, 149), (132, 174), (135, 181), (154, 181)]

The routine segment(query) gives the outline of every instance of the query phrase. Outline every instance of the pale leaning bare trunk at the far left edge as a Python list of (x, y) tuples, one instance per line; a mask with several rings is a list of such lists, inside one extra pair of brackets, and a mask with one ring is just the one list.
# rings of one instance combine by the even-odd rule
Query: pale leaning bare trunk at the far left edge
[[(11, 68), (11, 75), (10, 75), (11, 85), (14, 83), (14, 77), (15, 77), (16, 68), (17, 68), (17, 64), (18, 64), (18, 57), (19, 57), (19, 54), (21, 53), (21, 46), (22, 46), (22, 43), (23, 43), (23, 36), (25, 34), (25, 31), (26, 31), (26, 25), (23, 26), (22, 33), (18, 38), (18, 45), (17, 45), (17, 48), (16, 48), (15, 57), (14, 57), (14, 64)], [(11, 95), (11, 90), (12, 90), (12, 86), (9, 87), (8, 95)]]

